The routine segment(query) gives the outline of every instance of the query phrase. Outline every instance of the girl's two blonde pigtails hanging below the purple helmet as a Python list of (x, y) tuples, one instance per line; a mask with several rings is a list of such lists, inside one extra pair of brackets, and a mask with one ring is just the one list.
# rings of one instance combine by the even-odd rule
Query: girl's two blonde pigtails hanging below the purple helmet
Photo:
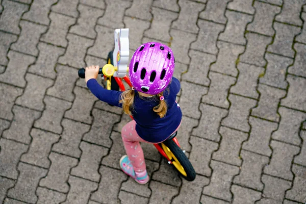
[[(160, 100), (160, 97), (163, 96), (164, 92), (161, 92), (156, 95), (157, 99), (159, 100), (159, 104), (153, 108), (153, 111), (156, 112), (160, 118), (165, 117), (168, 107), (165, 100)], [(130, 89), (126, 90), (121, 94), (121, 99), (119, 103), (122, 104), (122, 109), (124, 113), (132, 115), (132, 110), (134, 109), (134, 98), (135, 98), (135, 91)]]

